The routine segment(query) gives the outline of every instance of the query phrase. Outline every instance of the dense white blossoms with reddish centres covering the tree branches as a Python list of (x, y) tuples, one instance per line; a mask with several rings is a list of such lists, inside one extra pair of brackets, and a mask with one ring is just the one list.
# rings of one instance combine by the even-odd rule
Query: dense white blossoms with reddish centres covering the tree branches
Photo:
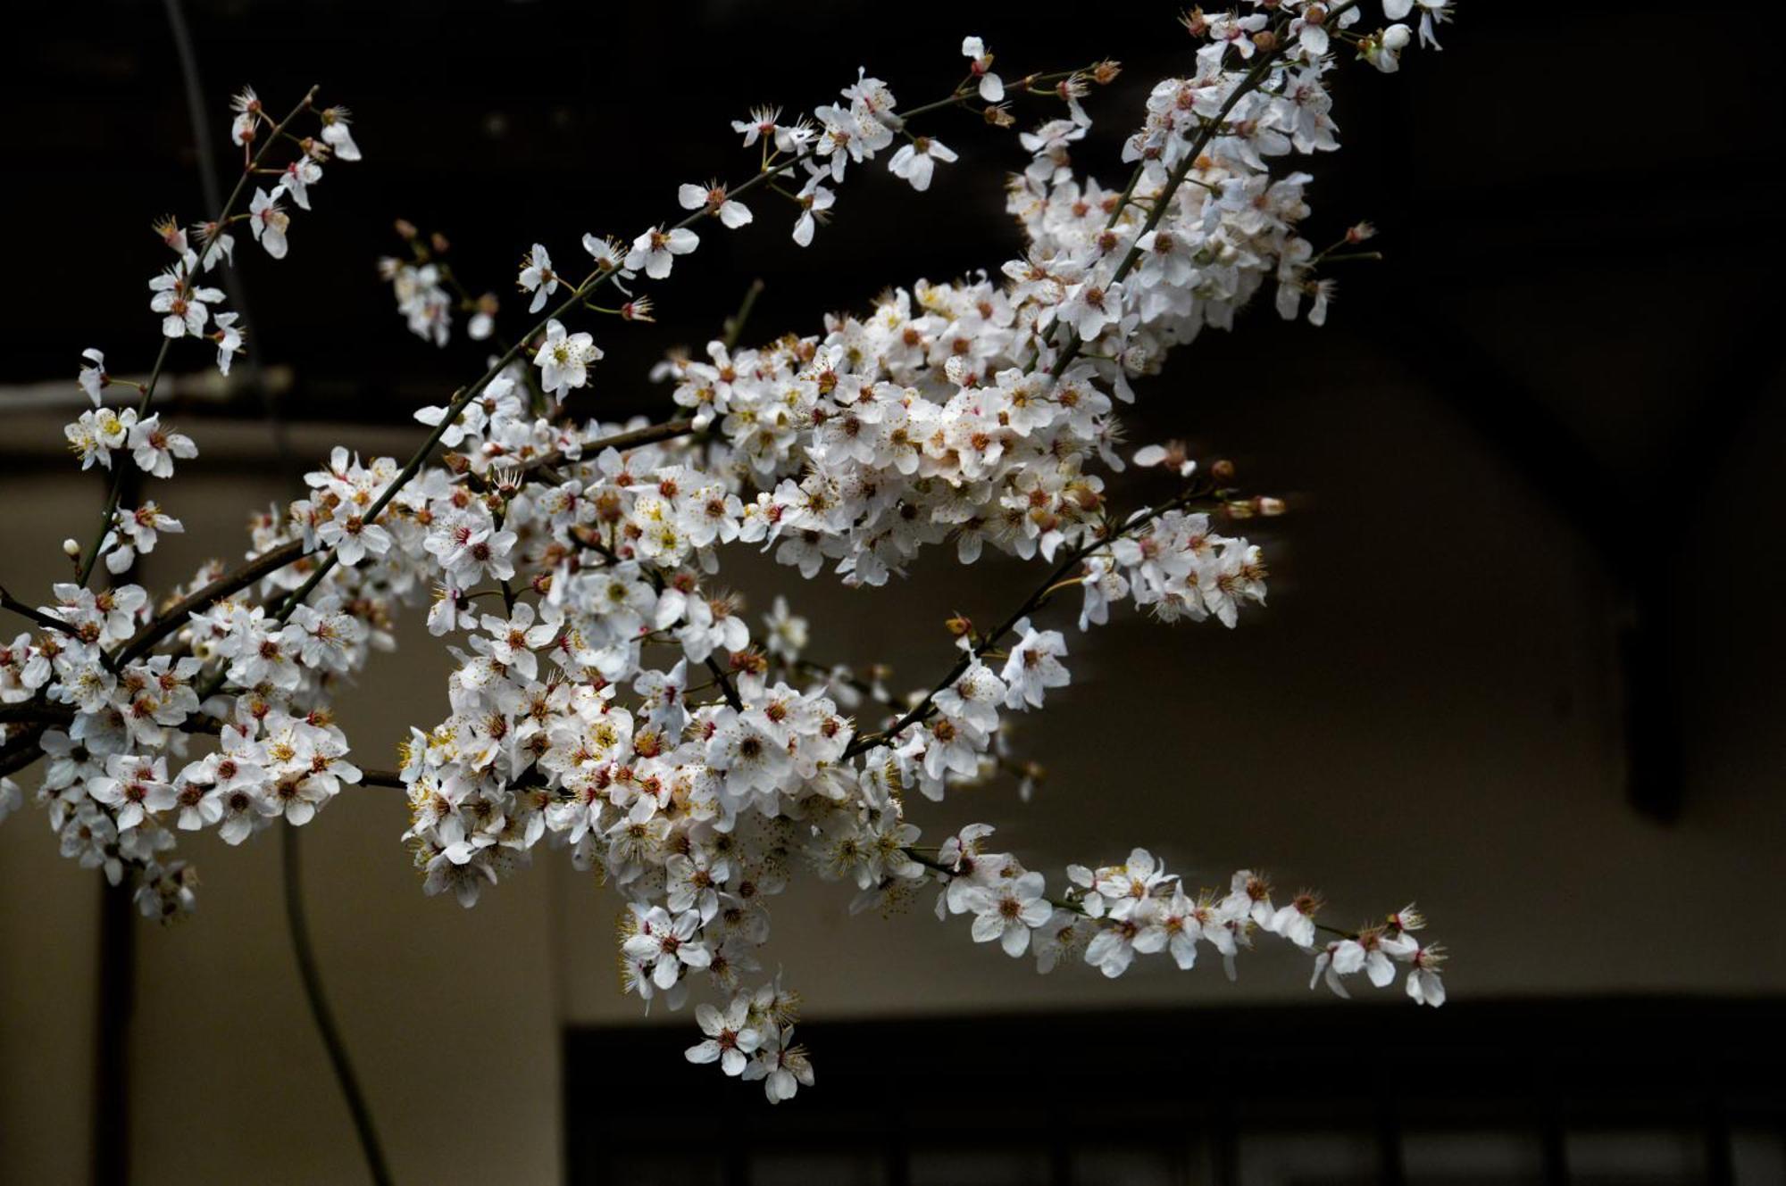
[[(1418, 7), (1431, 41), (1448, 4)], [(1413, 0), (1384, 0), (1382, 13), (1398, 21)], [(859, 71), (843, 102), (809, 118), (754, 111), (734, 130), (757, 148), (755, 175), (680, 186), (680, 223), (584, 236), (582, 279), (530, 246), (516, 284), (538, 323), (452, 402), (416, 413), (430, 434), (409, 463), (334, 450), (305, 475), (305, 497), (252, 520), (243, 570), (207, 566), (159, 611), (134, 584), (88, 589), (86, 572), (55, 586), (36, 609), (41, 632), (0, 648), (0, 756), (48, 757), (38, 798), (64, 852), (113, 881), (136, 872), (157, 915), (193, 902), (189, 866), (171, 856), (177, 831), (241, 843), (305, 823), (355, 782), (402, 788), (425, 891), (464, 906), (541, 843), (563, 848), (625, 902), (625, 990), (670, 1007), (711, 991), (720, 1004), (697, 1009), (705, 1040), (689, 1057), (761, 1079), (772, 1100), (813, 1082), (793, 1041), (797, 1000), (761, 977), (759, 957), (770, 900), (802, 872), (854, 884), (857, 909), (939, 884), (939, 916), (972, 915), (977, 941), (1034, 952), (1045, 972), (1068, 954), (1107, 977), (1147, 954), (1189, 968), (1209, 945), (1232, 973), (1256, 936), (1277, 934), (1336, 991), (1343, 977), (1384, 986), (1402, 968), (1409, 997), (1443, 1002), (1443, 952), (1415, 938), (1423, 920), (1411, 907), (1325, 929), (1316, 895), (1273, 906), (1250, 872), (1191, 891), (1143, 848), (1122, 864), (1070, 866), (1050, 897), (1041, 872), (986, 847), (988, 825), (922, 843), (920, 800), (1002, 768), (1014, 714), (1070, 688), (1066, 634), (1043, 618), (1056, 598), (1077, 595), (1082, 632), (1122, 606), (1232, 627), (1264, 602), (1259, 548), (1229, 532), (1282, 504), (1241, 498), (1227, 466), (1202, 468), (1179, 445), (1125, 447), (1120, 407), (1170, 350), (1232, 327), (1264, 291), (1286, 318), (1304, 307), (1325, 318), (1334, 248), (1304, 238), (1311, 177), (1284, 163), (1338, 148), (1327, 79), (1340, 46), (1388, 71), (1409, 45), (1406, 25), (1352, 32), (1361, 20), (1357, 4), (1311, 0), (1186, 14), (1188, 71), (1152, 88), (1118, 188), (1072, 159), (1091, 123), (1082, 100), (1113, 63), (1011, 79), (966, 38), (966, 77), (941, 104), (902, 111)], [(1020, 136), (1027, 159), (1006, 198), (1025, 236), (1018, 257), (895, 288), (814, 332), (759, 347), (730, 332), (700, 359), (668, 359), (655, 377), (680, 420), (570, 411), (598, 386), (604, 352), (595, 330), (566, 322), (598, 309), (598, 289), (625, 296), (604, 313), (648, 320), (652, 296), (636, 289), (698, 250), (695, 225), (754, 225), (745, 198), (791, 175), (793, 238), (807, 245), (852, 164), (884, 154), (922, 191), (957, 159), (914, 130), (918, 116), (966, 107), (1011, 125), (1018, 95), (1057, 104)], [(245, 150), (284, 129), (252, 93), (238, 113)], [(230, 255), (223, 227), (248, 220), (284, 255), (282, 204), (309, 209), (323, 163), (359, 155), (339, 109), (300, 143), (246, 214), (200, 229), (202, 257), (184, 230), (168, 232), (180, 263), (157, 280), (155, 305), (170, 339), (229, 316), (209, 311), (221, 295), (196, 280)], [(1366, 236), (1359, 223), (1336, 246)], [(445, 241), (414, 229), (405, 239), (411, 259), (386, 261), (384, 275), (409, 327), (445, 345), (452, 313), (470, 311), (470, 336), (495, 338), (495, 298), (459, 288)], [(223, 368), (241, 345), (230, 330), (211, 334)], [(166, 477), (193, 455), (148, 413), (154, 380), (134, 414), (100, 407), (118, 380), (96, 352), (89, 361), (95, 411), (70, 425), (84, 466), (109, 468), (113, 450), (130, 448)], [(446, 452), (430, 464), (436, 448)], [(1131, 464), (1148, 472), (1132, 486), (1163, 497), (1118, 511), (1107, 486)], [(123, 573), (179, 523), (150, 502), (105, 530), (95, 555)], [(1050, 572), (998, 625), (950, 622), (947, 673), (904, 697), (873, 668), (809, 659), (811, 625), (786, 600), (754, 627), (718, 582), (729, 547), (772, 552), (807, 579), (829, 568), (880, 586), (931, 545), (959, 564), (989, 548)], [(398, 770), (363, 770), (330, 691), (423, 602), (455, 661), (448, 714), (411, 731)], [(18, 798), (0, 782), (0, 816)]]

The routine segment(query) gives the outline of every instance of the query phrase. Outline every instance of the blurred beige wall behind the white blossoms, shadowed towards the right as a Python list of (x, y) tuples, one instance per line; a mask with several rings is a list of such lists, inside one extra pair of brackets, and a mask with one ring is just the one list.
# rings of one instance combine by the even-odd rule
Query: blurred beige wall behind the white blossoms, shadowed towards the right
[[(1756, 932), (1782, 823), (1777, 575), (1731, 573), (1761, 547), (1748, 536), (1779, 522), (1763, 443), (1786, 423), (1768, 413), (1715, 491), (1741, 513), (1709, 516), (1688, 545), (1707, 573), (1684, 639), (1688, 800), (1661, 827), (1623, 797), (1615, 606), (1593, 555), (1427, 393), (1365, 382), (1381, 368), (1368, 363), (1336, 347), (1322, 386), (1275, 393), (1250, 425), (1248, 413), (1204, 418), (1304, 491), (1270, 530), (1268, 609), (1232, 632), (1132, 616), (1070, 632), (1075, 686), (1020, 722), (1020, 745), (1050, 770), (1036, 800), (1000, 782), (914, 802), (913, 816), (931, 836), (997, 822), (1050, 877), (1143, 843), (1193, 881), (1252, 864), (1284, 890), (1320, 886), (1341, 922), (1418, 898), (1454, 952), (1459, 1009), (1488, 995), (1786, 990), (1786, 954)], [(14, 427), (14, 457), (59, 439), (54, 420)], [(239, 555), (245, 511), (280, 493), (271, 464), (207, 466), (264, 459), (259, 429), (186, 427), (207, 457), (166, 491), (188, 534), (152, 557), (157, 584)], [(304, 429), (298, 455), (338, 439), (402, 454), (414, 436)], [(20, 595), (46, 588), (57, 541), (96, 513), (96, 482), (70, 470), (0, 470), (0, 579)], [(729, 572), (754, 609), (791, 575), (745, 557)], [(929, 684), (950, 659), (941, 618), (997, 618), (1032, 579), (1013, 564), (957, 575), (931, 564), (880, 591), (816, 580), (789, 593), (822, 623), (813, 657), (893, 656), (900, 686)], [(441, 652), (414, 625), (402, 641), (341, 700), (368, 764), (391, 764), (407, 725), (445, 714)], [(616, 993), (616, 900), (545, 850), (473, 911), (423, 898), (404, 825), (398, 793), (366, 789), (304, 834), (318, 957), (391, 1163), (404, 1181), (552, 1179), (559, 1027), (639, 1016)], [(359, 1181), (286, 941), (275, 838), (186, 847), (204, 873), (198, 915), (138, 925), (136, 1181)], [(0, 827), (0, 1179), (82, 1181), (95, 875), (61, 861), (27, 807)], [(1307, 998), (1306, 963), (1282, 950), (1247, 959), (1238, 986), (1214, 966), (1036, 977), (977, 948), (961, 920), (938, 923), (929, 897), (893, 918), (850, 918), (848, 898), (798, 882), (764, 950), (805, 997), (820, 1066), (825, 1018)]]

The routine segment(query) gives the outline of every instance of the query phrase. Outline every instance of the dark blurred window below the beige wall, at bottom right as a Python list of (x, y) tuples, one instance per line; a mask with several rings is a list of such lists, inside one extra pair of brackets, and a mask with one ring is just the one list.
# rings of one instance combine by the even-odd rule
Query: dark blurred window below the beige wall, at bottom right
[(814, 1022), (779, 1107), (691, 1020), (573, 1029), (570, 1181), (1786, 1184), (1786, 1002), (1397, 1006)]

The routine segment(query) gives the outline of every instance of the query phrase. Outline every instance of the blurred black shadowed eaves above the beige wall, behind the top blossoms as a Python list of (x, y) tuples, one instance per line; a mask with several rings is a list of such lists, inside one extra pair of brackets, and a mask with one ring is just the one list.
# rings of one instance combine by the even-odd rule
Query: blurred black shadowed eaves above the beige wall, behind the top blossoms
[[(1122, 59), (1077, 154), (1114, 179), (1148, 84), (1188, 66), (1175, 14), (1166, 4), (184, 0), (225, 182), (234, 88), (250, 82), (282, 111), (320, 82), (323, 102), (355, 114), (364, 163), (330, 168), (289, 259), (246, 245), (241, 279), (259, 359), (296, 372), (282, 414), (373, 422), (441, 402), (484, 354), (405, 332), (375, 275), (398, 248), (391, 220), (445, 232), (464, 282), (509, 296), (504, 325), (516, 332), (511, 286), (532, 241), (572, 259), (586, 230), (630, 238), (677, 214), (679, 182), (754, 168), (729, 120), (757, 102), (829, 102), (857, 64), (904, 105), (945, 95), (964, 32), (986, 38), (1007, 77)], [(205, 216), (168, 7), (34, 5), (9, 23), (4, 379), (71, 380), (91, 345), (120, 370), (143, 368), (155, 348), (143, 286), (164, 263), (148, 223)], [(1281, 430), (1273, 389), (1322, 384), (1336, 357), (1354, 380), (1359, 357), (1384, 379), (1413, 375), (1577, 525), (1631, 589), (1640, 625), (1663, 623), (1627, 657), (1650, 672), (1640, 686), (1670, 688), (1675, 593), (1645, 573), (1668, 563), (1670, 534), (1700, 511), (1698, 491), (1781, 377), (1768, 36), (1688, 25), (1700, 18), (1652, 2), (1463, 0), (1441, 54), (1411, 52), (1395, 77), (1347, 64), (1345, 148), (1311, 166), (1309, 238), (1370, 218), (1388, 261), (1340, 277), (1325, 330), (1261, 307), (1238, 334), (1206, 334), (1152, 382), (1139, 416), (1209, 448), (1268, 450)], [(1039, 109), (1020, 114), (1029, 123)], [(941, 168), (929, 195), (879, 166), (857, 171), (809, 250), (788, 239), (791, 211), (768, 200), (755, 227), (707, 230), (655, 293), (661, 325), (598, 327), (607, 361), (591, 400), (614, 416), (663, 409), (650, 363), (718, 336), (752, 277), (768, 284), (752, 332), (768, 338), (814, 332), (825, 309), (861, 309), (888, 284), (1009, 257), (1018, 238), (1002, 175), (1025, 159), (1013, 134), (959, 113), (934, 132), (963, 163)], [(261, 402), (245, 393), (232, 411), (259, 416)], [(1632, 697), (1638, 738), (1647, 714), (1673, 718), (1668, 693), (1652, 700)], [(1672, 777), (1666, 756), (1636, 766)]]

